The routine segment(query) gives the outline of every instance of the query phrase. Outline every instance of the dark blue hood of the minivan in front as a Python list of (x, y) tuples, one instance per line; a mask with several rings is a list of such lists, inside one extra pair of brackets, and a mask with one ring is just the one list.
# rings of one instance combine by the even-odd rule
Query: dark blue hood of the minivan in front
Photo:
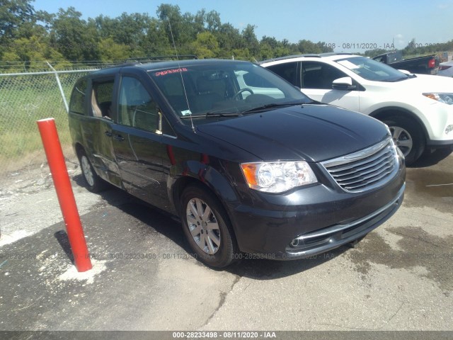
[(350, 154), (388, 137), (374, 118), (324, 104), (304, 104), (197, 126), (265, 161), (321, 162)]

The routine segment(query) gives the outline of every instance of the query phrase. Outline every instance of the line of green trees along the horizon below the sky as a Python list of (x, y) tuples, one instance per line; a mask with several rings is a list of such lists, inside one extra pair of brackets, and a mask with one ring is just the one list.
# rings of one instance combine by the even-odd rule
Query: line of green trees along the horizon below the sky
[[(101, 60), (121, 62), (133, 57), (195, 54), (200, 58), (265, 60), (285, 55), (333, 52), (326, 42), (301, 39), (296, 43), (264, 36), (256, 38), (256, 26), (239, 30), (222, 23), (217, 11), (182, 13), (180, 7), (161, 4), (156, 16), (122, 13), (117, 18), (82, 19), (76, 8), (57, 13), (35, 11), (33, 0), (0, 0), (0, 68), (33, 69), (42, 60), (58, 67), (70, 62)], [(411, 40), (403, 55), (453, 50), (445, 44), (421, 45)], [(374, 57), (387, 50), (369, 50)], [(8, 63), (6, 63), (8, 62)], [(37, 67), (37, 66), (36, 66)]]

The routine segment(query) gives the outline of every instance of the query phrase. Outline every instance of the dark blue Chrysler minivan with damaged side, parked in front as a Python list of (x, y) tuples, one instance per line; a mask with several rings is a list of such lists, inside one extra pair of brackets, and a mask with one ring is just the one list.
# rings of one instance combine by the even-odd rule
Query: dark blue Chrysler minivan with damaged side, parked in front
[(79, 79), (69, 127), (91, 191), (107, 181), (180, 217), (197, 259), (312, 256), (396, 212), (406, 169), (374, 118), (232, 60), (124, 64)]

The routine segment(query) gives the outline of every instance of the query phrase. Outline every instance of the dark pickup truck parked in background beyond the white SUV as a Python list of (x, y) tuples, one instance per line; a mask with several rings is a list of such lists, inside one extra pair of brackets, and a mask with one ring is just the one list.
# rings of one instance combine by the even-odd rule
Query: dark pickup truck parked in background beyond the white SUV
[(373, 60), (388, 64), (394, 69), (403, 69), (411, 73), (437, 74), (439, 72), (439, 59), (435, 55), (403, 59), (401, 51), (393, 51), (377, 55)]

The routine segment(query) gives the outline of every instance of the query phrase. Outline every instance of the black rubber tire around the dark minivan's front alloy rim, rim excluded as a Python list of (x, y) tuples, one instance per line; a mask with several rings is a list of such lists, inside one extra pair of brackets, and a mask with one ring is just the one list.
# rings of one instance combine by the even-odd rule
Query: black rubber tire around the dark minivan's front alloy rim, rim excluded
[[(220, 246), (215, 254), (206, 254), (205, 251), (202, 251), (193, 239), (192, 234), (190, 234), (186, 217), (186, 209), (188, 202), (193, 198), (199, 198), (209, 205), (219, 225)], [(219, 200), (212, 195), (212, 193), (207, 191), (205, 188), (201, 188), (196, 185), (185, 188), (180, 197), (180, 220), (190, 248), (195, 252), (196, 256), (194, 257), (207, 264), (207, 266), (214, 268), (223, 268), (234, 261), (234, 255), (237, 253), (234, 232), (223, 206), (219, 203)]]

